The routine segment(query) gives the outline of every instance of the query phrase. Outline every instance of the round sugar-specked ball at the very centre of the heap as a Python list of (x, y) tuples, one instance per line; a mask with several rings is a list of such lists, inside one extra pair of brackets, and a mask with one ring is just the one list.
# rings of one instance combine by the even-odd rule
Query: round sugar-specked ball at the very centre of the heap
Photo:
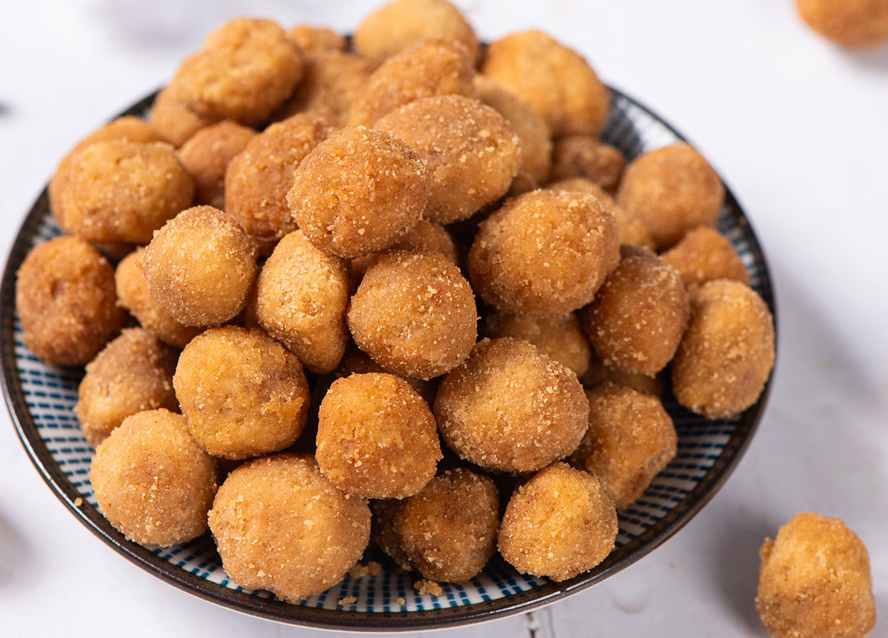
[(354, 343), (379, 365), (419, 379), (461, 364), (478, 337), (472, 287), (439, 253), (378, 256), (346, 320)]

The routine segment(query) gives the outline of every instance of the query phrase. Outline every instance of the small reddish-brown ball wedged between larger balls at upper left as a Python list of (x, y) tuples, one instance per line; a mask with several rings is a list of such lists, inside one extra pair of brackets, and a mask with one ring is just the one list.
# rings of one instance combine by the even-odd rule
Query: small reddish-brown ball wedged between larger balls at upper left
[(235, 122), (219, 122), (198, 130), (178, 149), (178, 161), (194, 178), (194, 203), (225, 209), (228, 162), (256, 137), (256, 131)]

